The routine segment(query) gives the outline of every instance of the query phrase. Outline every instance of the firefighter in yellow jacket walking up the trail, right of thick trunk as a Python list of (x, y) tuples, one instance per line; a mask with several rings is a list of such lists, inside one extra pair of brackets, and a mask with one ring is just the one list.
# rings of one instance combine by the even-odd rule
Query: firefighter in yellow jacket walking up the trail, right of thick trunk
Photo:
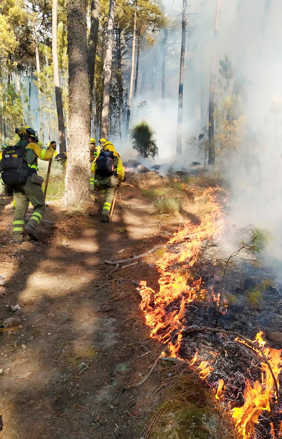
[(124, 179), (125, 173), (121, 157), (111, 142), (105, 142), (100, 155), (92, 163), (91, 172), (95, 174), (95, 187), (104, 192), (104, 206), (101, 221), (109, 222), (114, 190)]

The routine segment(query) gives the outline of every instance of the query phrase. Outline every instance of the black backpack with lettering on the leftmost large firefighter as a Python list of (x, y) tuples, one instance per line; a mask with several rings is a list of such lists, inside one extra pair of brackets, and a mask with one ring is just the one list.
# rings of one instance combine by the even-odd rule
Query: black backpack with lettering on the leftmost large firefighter
[(17, 188), (24, 186), (29, 175), (24, 145), (14, 145), (5, 148), (0, 161), (1, 178), (4, 184)]

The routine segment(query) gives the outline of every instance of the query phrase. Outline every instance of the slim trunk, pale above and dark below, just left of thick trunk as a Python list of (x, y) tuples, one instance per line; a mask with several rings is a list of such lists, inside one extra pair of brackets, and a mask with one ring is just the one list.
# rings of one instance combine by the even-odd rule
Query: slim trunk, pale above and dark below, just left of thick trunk
[(66, 152), (66, 138), (64, 133), (64, 113), (61, 97), (61, 86), (59, 76), (58, 54), (57, 54), (57, 0), (53, 0), (52, 4), (52, 56), (54, 68), (54, 85), (57, 106), (58, 129), (60, 152)]

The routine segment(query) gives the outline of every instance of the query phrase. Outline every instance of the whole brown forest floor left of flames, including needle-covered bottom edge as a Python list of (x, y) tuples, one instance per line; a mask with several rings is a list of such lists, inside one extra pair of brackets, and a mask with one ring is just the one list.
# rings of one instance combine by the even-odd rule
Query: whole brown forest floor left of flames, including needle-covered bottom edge
[[(211, 181), (199, 181), (129, 174), (107, 224), (100, 194), (73, 211), (52, 198), (45, 219), (54, 228), (42, 223), (41, 242), (21, 246), (9, 243), (13, 200), (0, 198), (1, 438), (233, 437), (211, 391), (186, 367), (160, 364), (132, 386), (161, 350), (136, 287), (142, 279), (157, 286), (153, 262), (164, 249), (127, 268), (104, 263), (166, 243), (187, 219), (200, 221), (209, 206), (195, 194)], [(152, 201), (162, 195), (181, 200), (181, 209), (155, 214)], [(20, 310), (12, 312), (14, 304)], [(20, 321), (6, 329), (10, 317)]]

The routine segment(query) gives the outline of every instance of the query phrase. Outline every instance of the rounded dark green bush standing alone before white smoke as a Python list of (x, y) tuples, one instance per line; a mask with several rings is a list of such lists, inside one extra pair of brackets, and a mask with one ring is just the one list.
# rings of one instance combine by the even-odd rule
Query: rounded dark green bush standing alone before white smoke
[(146, 121), (136, 123), (130, 131), (132, 148), (138, 151), (140, 158), (155, 158), (158, 155), (154, 131)]

